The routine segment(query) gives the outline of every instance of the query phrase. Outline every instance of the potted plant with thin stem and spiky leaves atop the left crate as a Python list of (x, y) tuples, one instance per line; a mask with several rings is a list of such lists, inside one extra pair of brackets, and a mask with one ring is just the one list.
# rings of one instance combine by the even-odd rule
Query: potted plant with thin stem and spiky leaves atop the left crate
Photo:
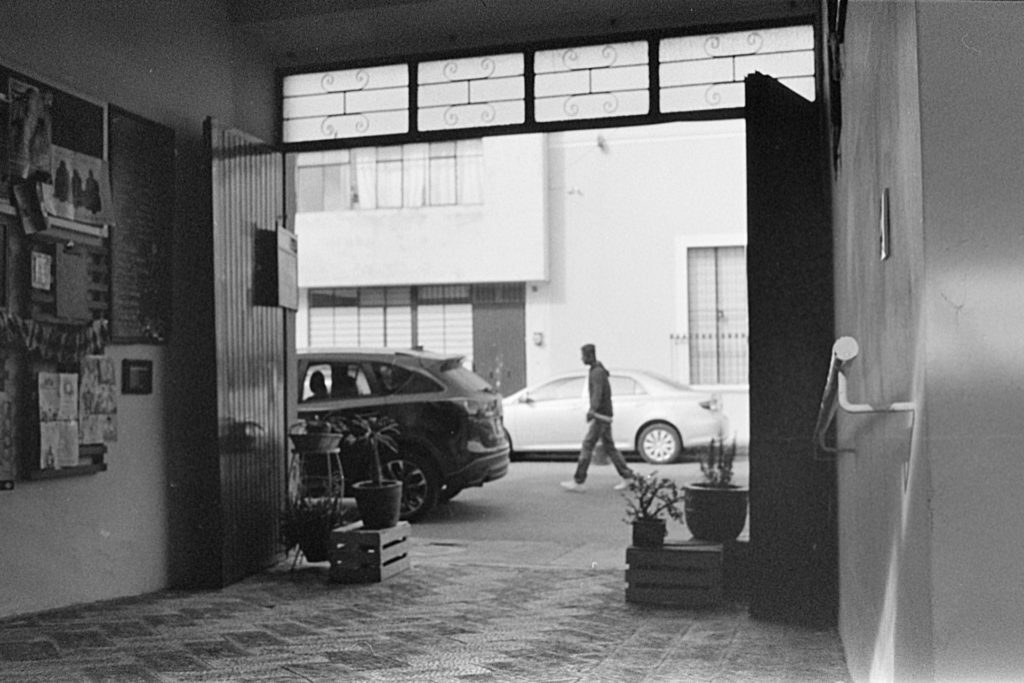
[(388, 528), (398, 523), (401, 514), (401, 482), (385, 479), (381, 450), (397, 453), (395, 435), (398, 423), (379, 415), (352, 415), (343, 418), (351, 443), (367, 457), (370, 479), (352, 484), (352, 495), (359, 508), (362, 527)]

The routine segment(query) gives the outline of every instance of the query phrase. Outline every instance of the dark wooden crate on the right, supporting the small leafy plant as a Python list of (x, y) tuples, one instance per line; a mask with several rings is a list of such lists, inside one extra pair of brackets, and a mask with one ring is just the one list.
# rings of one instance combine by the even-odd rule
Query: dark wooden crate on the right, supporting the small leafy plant
[(662, 548), (626, 549), (626, 600), (706, 607), (722, 600), (720, 543), (683, 541)]

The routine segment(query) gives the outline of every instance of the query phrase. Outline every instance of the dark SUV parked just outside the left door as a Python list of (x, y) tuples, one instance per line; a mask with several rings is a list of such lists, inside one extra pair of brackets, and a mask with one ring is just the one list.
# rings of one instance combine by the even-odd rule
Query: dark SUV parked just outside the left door
[[(398, 423), (398, 453), (381, 456), (385, 476), (402, 482), (402, 519), (508, 472), (502, 397), (462, 356), (360, 348), (300, 350), (298, 360), (299, 417), (385, 415)], [(346, 487), (369, 478), (344, 449), (342, 470)]]

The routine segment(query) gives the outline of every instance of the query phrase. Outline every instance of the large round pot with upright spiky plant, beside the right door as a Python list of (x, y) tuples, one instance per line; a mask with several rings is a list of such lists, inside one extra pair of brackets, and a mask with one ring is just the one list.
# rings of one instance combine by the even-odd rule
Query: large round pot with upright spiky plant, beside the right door
[(732, 483), (736, 440), (727, 447), (725, 439), (712, 439), (700, 460), (703, 480), (688, 483), (686, 526), (698, 541), (735, 541), (746, 523), (748, 489)]

